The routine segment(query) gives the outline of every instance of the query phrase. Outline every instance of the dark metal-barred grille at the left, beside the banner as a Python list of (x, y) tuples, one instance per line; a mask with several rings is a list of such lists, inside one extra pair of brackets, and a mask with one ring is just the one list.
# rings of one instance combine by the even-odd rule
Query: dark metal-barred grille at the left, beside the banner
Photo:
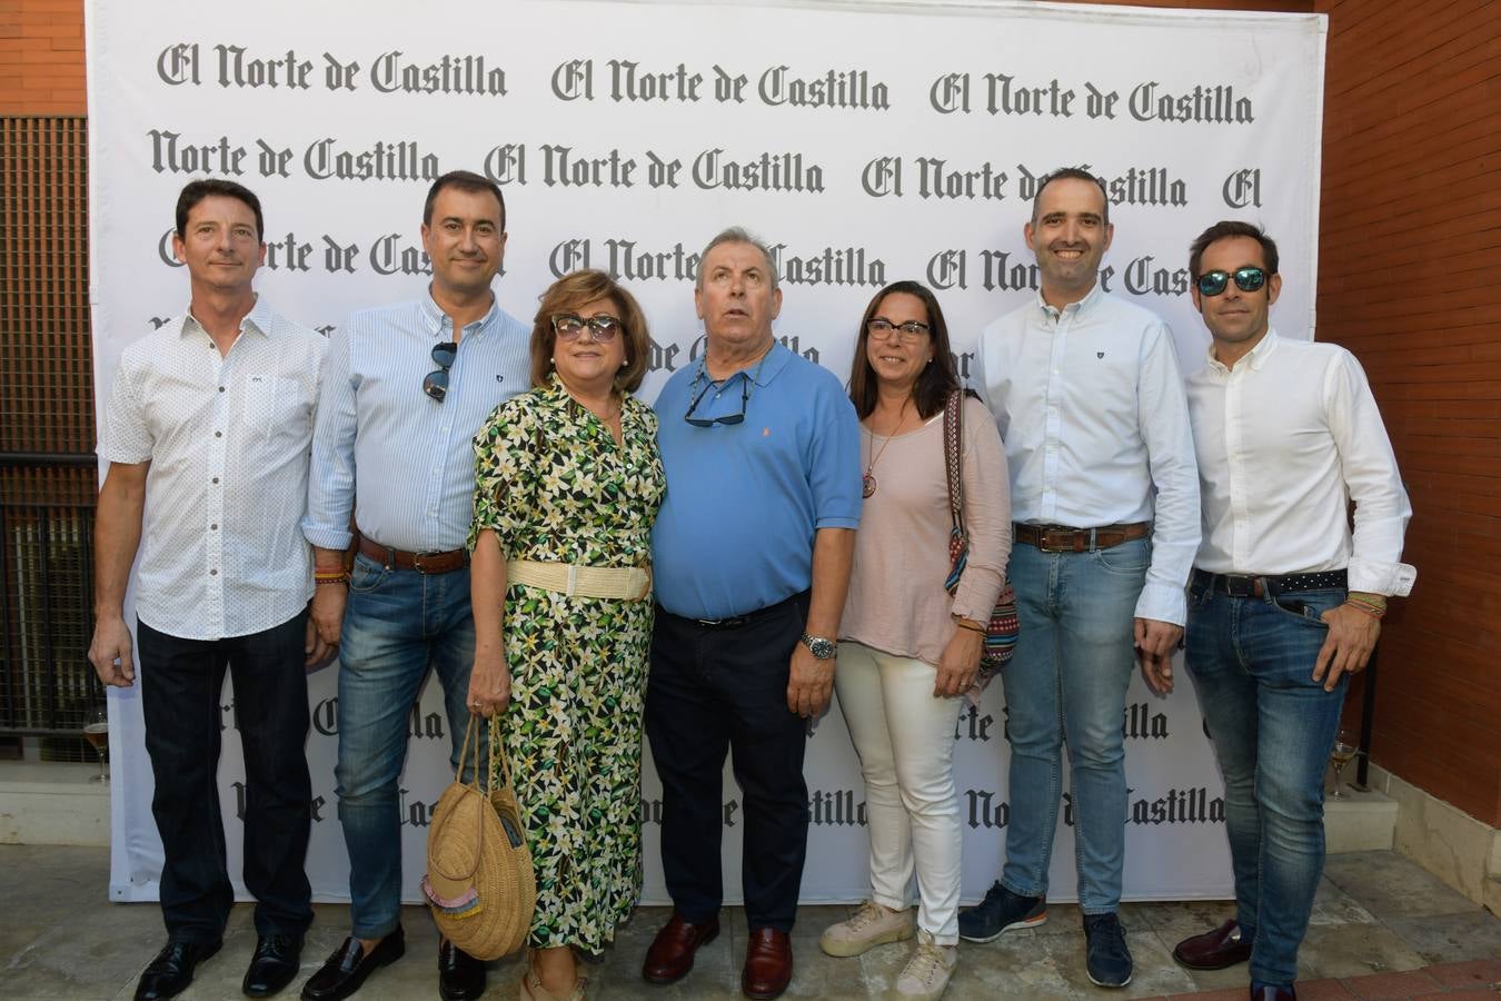
[(96, 498), (83, 117), (0, 117), (0, 734), (86, 759), (104, 695), (93, 630)]

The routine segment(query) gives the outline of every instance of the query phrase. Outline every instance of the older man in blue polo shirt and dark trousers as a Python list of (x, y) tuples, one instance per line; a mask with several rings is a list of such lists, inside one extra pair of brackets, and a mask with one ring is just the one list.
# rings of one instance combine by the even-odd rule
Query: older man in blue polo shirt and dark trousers
[(668, 492), (651, 540), (645, 729), (674, 912), (641, 972), (680, 980), (719, 933), (720, 776), (732, 749), (750, 929), (740, 986), (775, 998), (793, 978), (805, 735), (833, 689), (860, 522), (860, 425), (835, 375), (772, 338), (782, 291), (744, 230), (710, 240), (693, 303), (708, 345), (656, 402)]

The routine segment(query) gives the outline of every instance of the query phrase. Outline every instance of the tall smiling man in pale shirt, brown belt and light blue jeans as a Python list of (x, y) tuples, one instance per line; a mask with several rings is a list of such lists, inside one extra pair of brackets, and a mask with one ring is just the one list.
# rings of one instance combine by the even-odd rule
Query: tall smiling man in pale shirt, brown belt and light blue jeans
[[(1199, 545), (1199, 482), (1168, 326), (1108, 294), (1103, 183), (1066, 168), (1037, 183), (1027, 246), (1039, 294), (980, 333), (980, 392), (1012, 477), (1010, 579), (1021, 632), (1001, 674), (1012, 746), (1006, 866), (959, 935), (989, 942), (1048, 917), (1067, 740), (1085, 965), (1132, 978), (1117, 911), (1126, 864), (1121, 713), (1133, 672), (1172, 656)], [(1135, 654), (1133, 654), (1135, 651)]]

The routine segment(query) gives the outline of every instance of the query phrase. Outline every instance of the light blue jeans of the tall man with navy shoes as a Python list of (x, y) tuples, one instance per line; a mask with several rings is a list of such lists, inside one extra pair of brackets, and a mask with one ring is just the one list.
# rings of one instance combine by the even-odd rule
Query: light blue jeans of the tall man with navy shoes
[(1151, 542), (1094, 552), (1012, 549), (1021, 632), (1001, 671), (1012, 746), (1010, 824), (1001, 884), (1048, 894), (1048, 864), (1069, 744), (1079, 906), (1120, 906), (1126, 861), (1126, 689), (1135, 671), (1133, 618)]

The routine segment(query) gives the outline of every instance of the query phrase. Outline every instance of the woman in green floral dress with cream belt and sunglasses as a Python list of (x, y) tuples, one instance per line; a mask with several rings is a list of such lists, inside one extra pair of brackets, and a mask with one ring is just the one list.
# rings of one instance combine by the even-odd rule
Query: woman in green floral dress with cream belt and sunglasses
[(656, 416), (630, 395), (648, 345), (609, 276), (558, 279), (531, 329), (531, 392), (474, 437), (470, 701), (500, 707), (491, 743), (510, 761), (537, 875), (522, 999), (582, 998), (575, 950), (599, 953), (641, 891), (648, 566), (665, 489)]

